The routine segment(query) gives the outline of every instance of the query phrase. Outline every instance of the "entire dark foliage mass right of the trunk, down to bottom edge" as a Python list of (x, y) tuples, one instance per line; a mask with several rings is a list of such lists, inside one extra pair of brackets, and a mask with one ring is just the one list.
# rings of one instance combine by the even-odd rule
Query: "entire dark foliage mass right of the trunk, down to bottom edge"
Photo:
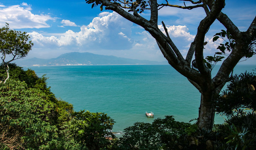
[(253, 150), (256, 147), (255, 86), (254, 73), (234, 75), (218, 98), (217, 112), (228, 117), (225, 125), (220, 126), (226, 143), (223, 148)]

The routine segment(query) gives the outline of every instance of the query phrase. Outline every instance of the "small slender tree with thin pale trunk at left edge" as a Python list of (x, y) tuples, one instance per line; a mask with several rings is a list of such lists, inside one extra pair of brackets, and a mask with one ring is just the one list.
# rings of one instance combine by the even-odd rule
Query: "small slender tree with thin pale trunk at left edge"
[(31, 41), (27, 43), (28, 38), (29, 36), (26, 32), (11, 30), (8, 23), (6, 23), (5, 27), (0, 28), (1, 59), (7, 72), (7, 78), (4, 83), (9, 79), (8, 64), (13, 60), (25, 57), (31, 50), (33, 43)]

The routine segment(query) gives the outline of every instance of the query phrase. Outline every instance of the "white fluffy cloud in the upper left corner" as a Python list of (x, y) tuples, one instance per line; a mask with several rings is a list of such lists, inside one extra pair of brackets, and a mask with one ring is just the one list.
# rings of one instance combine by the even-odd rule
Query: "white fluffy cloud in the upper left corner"
[(20, 5), (0, 5), (0, 26), (10, 24), (10, 28), (48, 28), (48, 20), (55, 20), (50, 15), (36, 15), (31, 13), (31, 5), (23, 2)]

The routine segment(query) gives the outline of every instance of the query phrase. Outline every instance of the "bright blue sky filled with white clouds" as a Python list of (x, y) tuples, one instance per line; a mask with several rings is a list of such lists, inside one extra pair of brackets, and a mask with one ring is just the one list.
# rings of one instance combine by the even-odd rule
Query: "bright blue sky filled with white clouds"
[[(163, 1), (165, 2), (165, 1)], [(183, 2), (172, 0), (174, 4)], [(189, 5), (189, 2), (186, 2)], [(256, 0), (226, 0), (222, 12), (240, 31), (246, 31), (256, 15)], [(142, 17), (150, 18), (145, 11)], [(183, 10), (164, 7), (158, 13), (158, 27), (163, 21), (181, 54), (186, 57), (204, 10)], [(113, 11), (91, 8), (85, 0), (0, 0), (0, 28), (8, 23), (11, 29), (27, 32), (34, 46), (28, 58), (54, 58), (67, 52), (91, 52), (139, 60), (166, 61), (155, 40), (140, 26)], [(212, 37), (224, 26), (215, 21), (205, 37), (208, 44), (204, 56), (214, 55), (223, 40)], [(244, 62), (256, 64), (256, 56)]]

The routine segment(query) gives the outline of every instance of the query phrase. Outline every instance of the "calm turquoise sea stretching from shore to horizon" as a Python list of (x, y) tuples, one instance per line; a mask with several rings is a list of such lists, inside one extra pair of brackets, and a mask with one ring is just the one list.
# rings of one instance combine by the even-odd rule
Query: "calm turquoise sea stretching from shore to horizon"
[[(217, 68), (218, 66), (216, 66)], [(165, 115), (189, 122), (198, 117), (200, 93), (170, 65), (90, 65), (24, 67), (41, 77), (56, 97), (70, 102), (74, 110), (105, 112), (122, 133), (134, 122), (153, 122)], [(238, 65), (234, 73), (252, 72), (255, 65)], [(213, 74), (216, 72), (213, 71)], [(147, 118), (145, 111), (155, 113)], [(215, 123), (223, 122), (222, 116)]]

